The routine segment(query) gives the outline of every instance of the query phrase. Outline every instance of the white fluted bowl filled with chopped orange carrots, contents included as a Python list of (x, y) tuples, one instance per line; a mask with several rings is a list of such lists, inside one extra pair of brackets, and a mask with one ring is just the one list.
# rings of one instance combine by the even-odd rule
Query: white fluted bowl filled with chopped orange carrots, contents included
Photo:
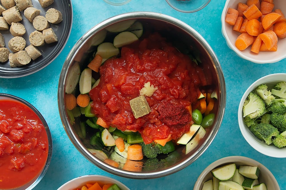
[(227, 0), (222, 34), (238, 56), (258, 64), (286, 58), (286, 7), (283, 0)]

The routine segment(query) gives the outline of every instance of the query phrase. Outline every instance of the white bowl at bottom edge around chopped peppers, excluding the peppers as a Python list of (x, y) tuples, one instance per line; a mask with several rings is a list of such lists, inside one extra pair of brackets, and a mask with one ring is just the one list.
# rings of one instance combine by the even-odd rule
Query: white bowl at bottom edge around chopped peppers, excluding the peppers
[(80, 177), (74, 178), (70, 181), (67, 181), (65, 184), (63, 184), (61, 187), (59, 187), (57, 190), (74, 190), (76, 188), (82, 187), (83, 185), (86, 185), (86, 183), (95, 183), (95, 182), (99, 182), (102, 184), (116, 183), (118, 185), (118, 187), (120, 187), (121, 190), (130, 190), (128, 187), (126, 187), (120, 181), (117, 181), (116, 179), (113, 179), (111, 177), (106, 177), (103, 175), (80, 176)]

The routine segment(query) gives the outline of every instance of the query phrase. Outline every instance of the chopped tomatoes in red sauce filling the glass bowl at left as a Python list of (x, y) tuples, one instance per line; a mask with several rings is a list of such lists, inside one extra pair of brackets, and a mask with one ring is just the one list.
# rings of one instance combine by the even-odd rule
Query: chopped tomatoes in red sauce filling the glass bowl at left
[(43, 123), (27, 105), (0, 100), (0, 189), (12, 189), (37, 178), (47, 161)]

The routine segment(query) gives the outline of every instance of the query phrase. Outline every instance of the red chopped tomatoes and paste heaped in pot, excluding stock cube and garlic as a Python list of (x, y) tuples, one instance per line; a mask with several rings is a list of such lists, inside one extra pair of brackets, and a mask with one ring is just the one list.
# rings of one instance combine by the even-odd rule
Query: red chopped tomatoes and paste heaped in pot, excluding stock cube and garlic
[[(110, 126), (139, 131), (145, 143), (173, 139), (189, 130), (187, 106), (197, 100), (202, 69), (158, 33), (121, 49), (100, 67), (100, 83), (90, 91), (92, 110)], [(150, 82), (158, 89), (146, 97), (151, 112), (135, 119), (129, 101)]]

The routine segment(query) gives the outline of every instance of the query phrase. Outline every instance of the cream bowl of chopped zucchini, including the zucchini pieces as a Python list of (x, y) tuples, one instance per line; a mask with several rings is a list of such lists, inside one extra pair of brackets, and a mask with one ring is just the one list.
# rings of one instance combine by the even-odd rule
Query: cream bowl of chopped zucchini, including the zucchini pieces
[(210, 164), (198, 177), (194, 190), (280, 190), (274, 175), (263, 164), (244, 156), (228, 156)]

